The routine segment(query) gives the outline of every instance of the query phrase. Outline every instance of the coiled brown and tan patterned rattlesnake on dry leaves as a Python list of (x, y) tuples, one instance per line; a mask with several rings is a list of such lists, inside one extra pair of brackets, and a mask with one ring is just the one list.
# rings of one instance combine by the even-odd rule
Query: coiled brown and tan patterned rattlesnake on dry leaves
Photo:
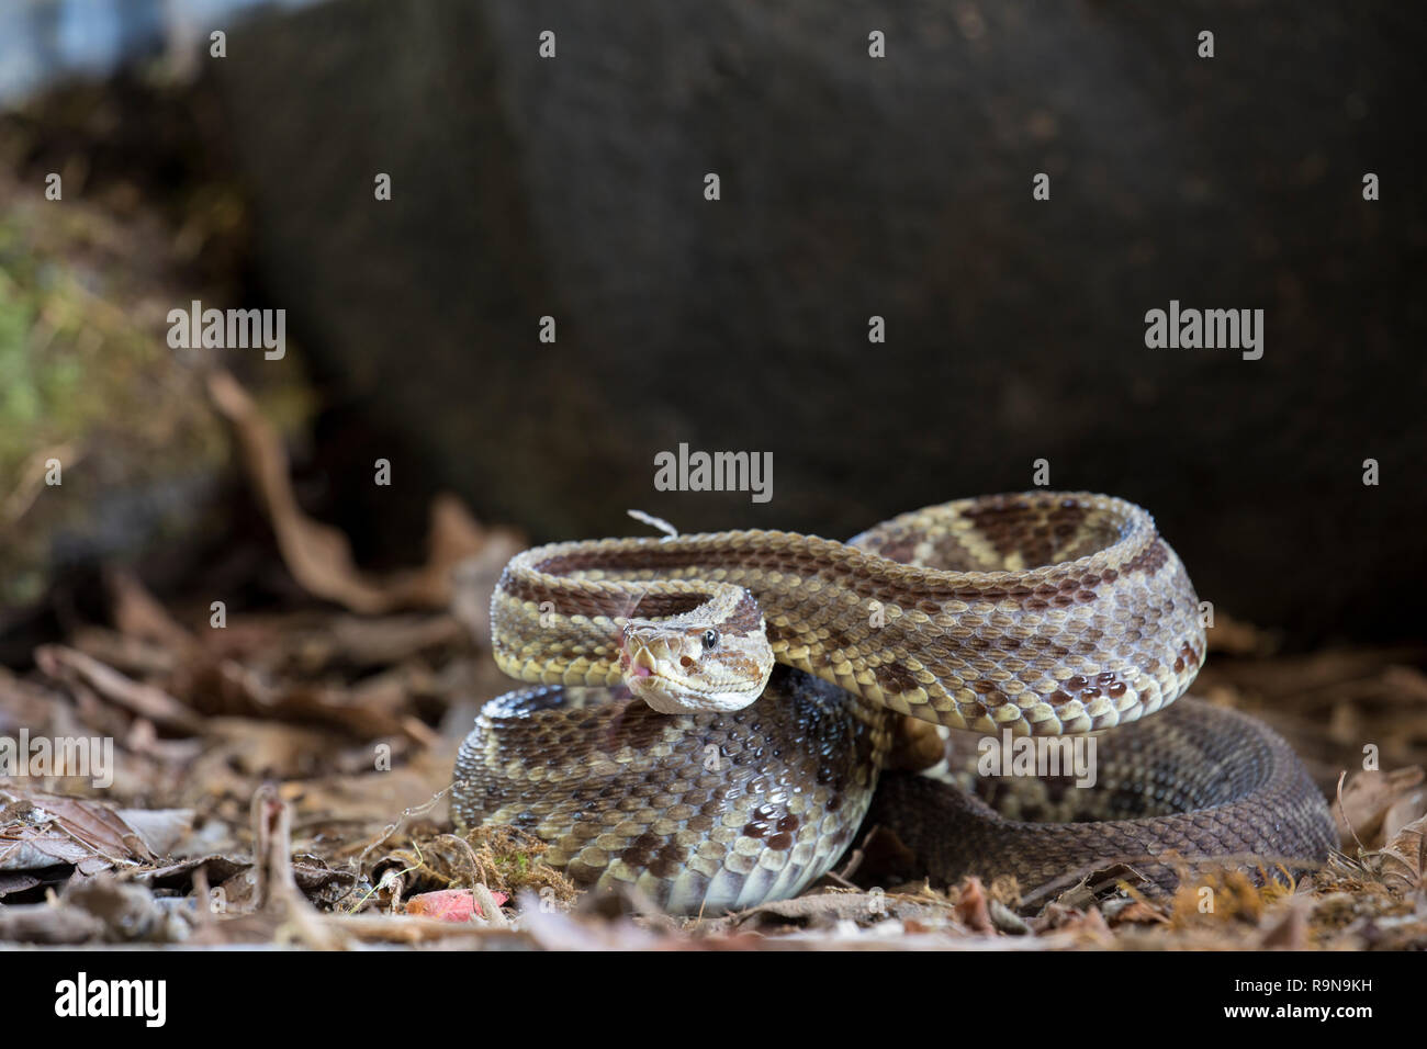
[[(846, 544), (551, 544), (507, 565), (491, 629), (499, 668), (535, 686), (477, 718), (457, 824), (532, 831), (578, 885), (676, 913), (798, 893), (865, 818), (908, 873), (1013, 875), (1032, 901), (1116, 868), (1167, 889), (1209, 861), (1307, 866), (1336, 841), (1277, 735), (1176, 704), (1206, 652), (1199, 598), (1123, 500), (960, 500)], [(972, 736), (948, 729), (1095, 734), (1096, 785), (968, 775)], [(928, 732), (960, 785), (898, 771)]]

